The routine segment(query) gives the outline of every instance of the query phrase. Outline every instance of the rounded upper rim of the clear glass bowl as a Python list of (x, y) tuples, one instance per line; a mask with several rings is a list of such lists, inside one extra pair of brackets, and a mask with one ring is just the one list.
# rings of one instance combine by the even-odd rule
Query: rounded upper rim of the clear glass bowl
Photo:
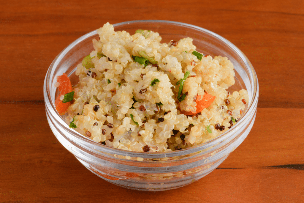
[[(239, 122), (237, 122), (237, 124), (234, 126), (234, 128), (229, 129), (228, 131), (217, 136), (216, 138), (209, 140), (208, 142), (204, 142), (202, 144), (199, 144), (199, 145), (187, 148), (187, 149), (181, 149), (181, 150), (169, 151), (169, 152), (149, 152), (149, 153), (147, 153), (147, 152), (134, 152), (134, 151), (128, 151), (128, 150), (123, 150), (123, 149), (117, 149), (117, 148), (109, 147), (106, 145), (102, 145), (101, 143), (95, 142), (95, 141), (81, 135), (74, 129), (69, 128), (68, 125), (64, 122), (63, 118), (58, 114), (58, 112), (54, 106), (54, 103), (52, 102), (51, 95), (48, 91), (48, 89), (49, 89), (48, 85), (50, 84), (49, 80), (50, 80), (51, 75), (54, 76), (54, 74), (52, 74), (52, 73), (54, 73), (54, 69), (55, 69), (54, 67), (57, 67), (62, 56), (67, 54), (67, 52), (69, 50), (71, 50), (74, 46), (76, 46), (81, 41), (87, 39), (88, 37), (92, 37), (92, 36), (96, 35), (97, 30), (93, 30), (89, 33), (84, 34), (83, 36), (79, 37), (78, 39), (74, 40), (71, 44), (69, 44), (67, 47), (65, 47), (56, 56), (56, 58), (53, 60), (53, 62), (51, 63), (50, 67), (47, 70), (47, 74), (45, 76), (45, 80), (44, 80), (44, 84), (43, 84), (44, 100), (46, 102), (46, 108), (51, 107), (51, 109), (49, 109), (49, 111), (54, 116), (54, 118), (59, 122), (59, 124), (66, 131), (69, 132), (69, 135), (73, 135), (74, 138), (78, 139), (79, 141), (82, 140), (82, 141), (87, 142), (87, 144), (89, 144), (89, 145), (91, 145), (91, 144), (94, 145), (93, 149), (96, 149), (96, 147), (97, 147), (98, 151), (101, 151), (101, 152), (117, 154), (117, 155), (130, 155), (130, 156), (134, 156), (134, 157), (138, 156), (138, 157), (143, 157), (143, 158), (151, 158), (151, 155), (153, 156), (153, 158), (163, 158), (163, 157), (172, 157), (172, 156), (181, 156), (181, 155), (185, 155), (185, 154), (192, 154), (192, 153), (204, 150), (204, 149), (209, 149), (214, 144), (219, 143), (220, 141), (226, 140), (227, 138), (232, 136), (234, 134), (234, 132), (237, 131), (242, 124), (244, 124), (244, 121), (246, 120), (245, 118), (247, 118), (248, 116), (253, 114), (253, 112), (257, 108), (257, 101), (258, 101), (258, 94), (259, 94), (259, 85), (258, 85), (257, 75), (256, 75), (256, 72), (255, 72), (252, 64), (250, 63), (248, 58), (245, 56), (245, 54), (242, 51), (240, 51), (240, 49), (237, 48), (234, 44), (232, 44), (229, 40), (225, 39), (224, 37), (212, 32), (210, 30), (207, 30), (205, 28), (191, 25), (188, 23), (181, 23), (181, 22), (168, 21), (168, 20), (133, 20), (133, 21), (115, 23), (115, 24), (113, 24), (113, 26), (115, 29), (115, 27), (117, 27), (117, 26), (123, 26), (126, 24), (136, 24), (136, 23), (160, 23), (160, 24), (167, 23), (167, 24), (173, 24), (175, 26), (183, 26), (183, 27), (199, 30), (203, 33), (208, 33), (209, 35), (212, 35), (213, 37), (217, 38), (219, 41), (224, 43), (226, 46), (228, 46), (229, 49), (236, 52), (237, 55), (241, 58), (242, 62), (244, 62), (245, 66), (249, 72), (248, 76), (249, 76), (249, 79), (251, 80), (250, 81), (251, 84), (254, 84), (254, 86), (252, 86), (252, 89), (253, 89), (252, 98), (250, 100), (250, 103), (248, 104), (247, 110), (245, 111), (242, 119)], [(65, 135), (65, 136), (67, 136), (67, 135)], [(95, 152), (95, 153), (98, 153), (98, 152)]]

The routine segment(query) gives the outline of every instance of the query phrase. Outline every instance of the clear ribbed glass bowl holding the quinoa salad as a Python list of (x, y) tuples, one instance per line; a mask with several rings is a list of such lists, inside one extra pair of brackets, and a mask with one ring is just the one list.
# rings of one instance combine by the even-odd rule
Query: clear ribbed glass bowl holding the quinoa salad
[[(102, 25), (101, 25), (102, 26)], [(236, 84), (229, 91), (247, 89), (250, 100), (233, 128), (204, 144), (173, 152), (131, 152), (94, 142), (69, 128), (57, 113), (54, 100), (57, 75), (66, 73), (76, 84), (74, 72), (82, 58), (93, 50), (92, 31), (75, 40), (54, 59), (47, 71), (43, 94), (47, 120), (59, 142), (91, 172), (121, 187), (141, 191), (162, 191), (190, 184), (218, 167), (247, 137), (257, 111), (257, 75), (247, 57), (223, 37), (185, 23), (163, 20), (139, 20), (114, 24), (115, 31), (135, 33), (137, 29), (160, 33), (162, 43), (191, 37), (199, 52), (211, 56), (226, 56), (236, 71)]]

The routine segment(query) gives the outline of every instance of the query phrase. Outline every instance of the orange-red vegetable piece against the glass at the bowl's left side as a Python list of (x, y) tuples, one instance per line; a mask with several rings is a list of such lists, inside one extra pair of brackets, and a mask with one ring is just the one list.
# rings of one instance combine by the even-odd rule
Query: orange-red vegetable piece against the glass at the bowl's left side
[(69, 77), (67, 77), (67, 74), (65, 73), (57, 77), (57, 82), (59, 82), (59, 95), (55, 99), (54, 104), (57, 112), (62, 116), (67, 112), (67, 108), (71, 105), (71, 102), (62, 103), (60, 96), (72, 92), (72, 84)]

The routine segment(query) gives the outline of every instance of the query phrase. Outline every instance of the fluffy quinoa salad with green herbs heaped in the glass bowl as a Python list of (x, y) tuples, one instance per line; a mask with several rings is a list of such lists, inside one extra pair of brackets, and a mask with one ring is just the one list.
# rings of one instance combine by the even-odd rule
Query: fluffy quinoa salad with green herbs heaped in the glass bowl
[(153, 30), (116, 32), (106, 23), (97, 33), (64, 112), (81, 135), (117, 149), (168, 152), (216, 138), (242, 116), (249, 96), (227, 92), (235, 83), (227, 57), (195, 51), (189, 37), (161, 43)]

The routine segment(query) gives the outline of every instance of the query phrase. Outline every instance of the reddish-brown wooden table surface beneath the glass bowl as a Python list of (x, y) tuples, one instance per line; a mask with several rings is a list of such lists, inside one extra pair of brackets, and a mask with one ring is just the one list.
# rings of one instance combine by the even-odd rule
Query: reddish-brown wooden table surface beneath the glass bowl
[[(0, 2), (0, 202), (304, 202), (304, 2)], [(245, 141), (212, 173), (164, 192), (124, 189), (88, 171), (55, 138), (43, 80), (68, 44), (102, 26), (164, 19), (240, 48), (260, 84)]]

